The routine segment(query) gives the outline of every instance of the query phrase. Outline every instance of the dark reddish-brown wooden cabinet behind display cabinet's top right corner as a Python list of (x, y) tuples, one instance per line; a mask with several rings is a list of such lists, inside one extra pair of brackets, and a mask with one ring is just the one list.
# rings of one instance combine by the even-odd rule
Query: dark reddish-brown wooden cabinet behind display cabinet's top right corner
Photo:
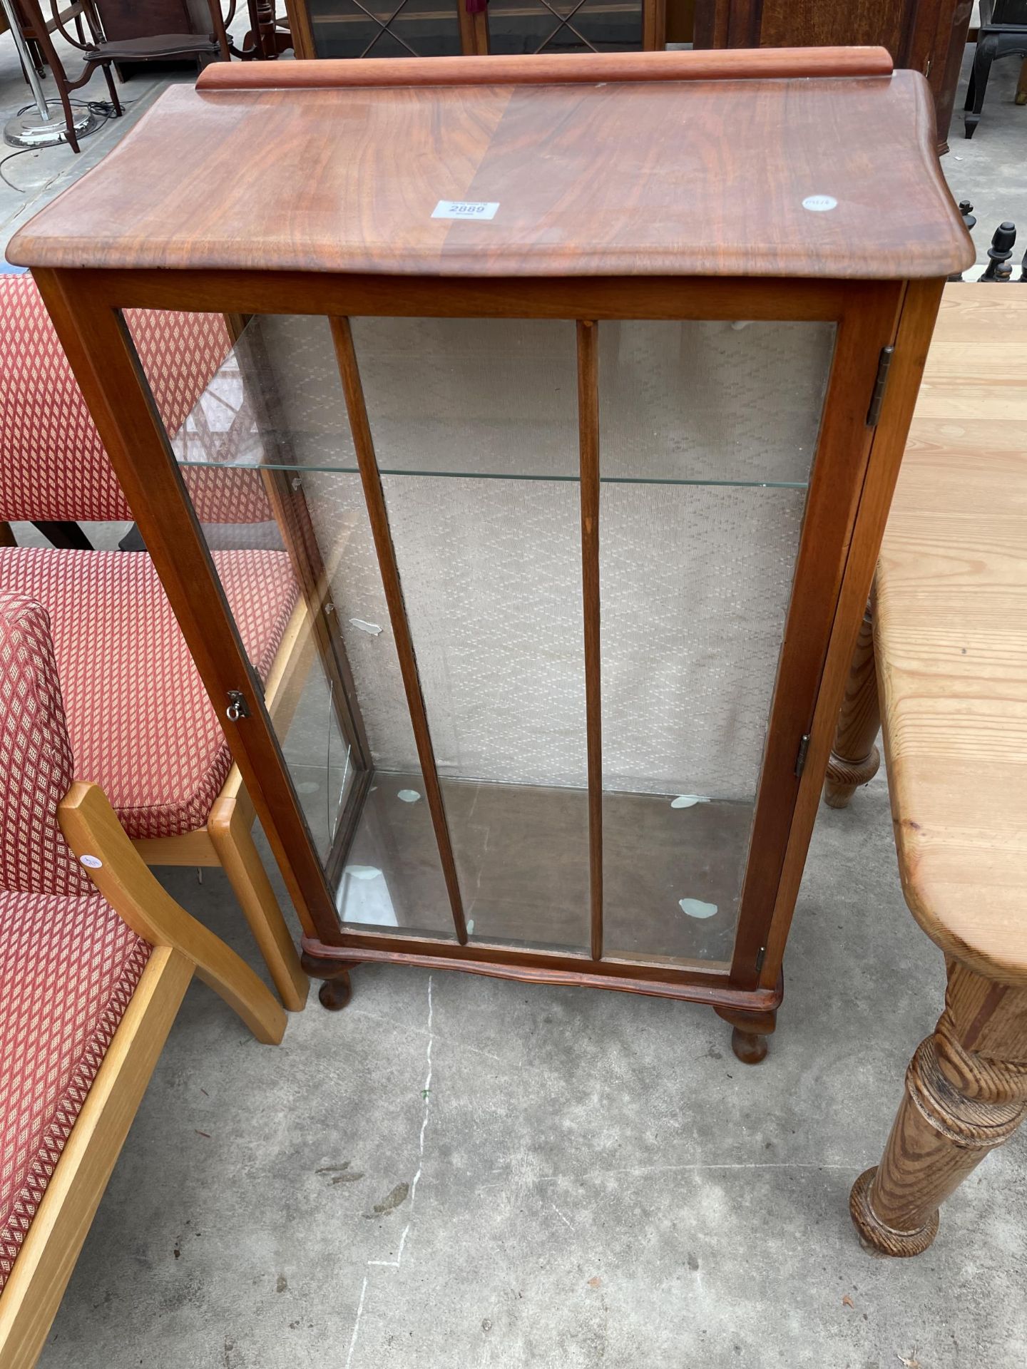
[(927, 77), (946, 152), (972, 8), (972, 0), (697, 0), (696, 47), (880, 44), (897, 67)]

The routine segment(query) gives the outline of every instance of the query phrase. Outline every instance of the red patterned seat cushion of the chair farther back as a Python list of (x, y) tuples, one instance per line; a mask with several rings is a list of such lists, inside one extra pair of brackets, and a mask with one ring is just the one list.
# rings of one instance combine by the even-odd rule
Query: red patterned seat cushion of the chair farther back
[[(267, 676), (297, 601), (285, 552), (215, 552), (242, 642)], [(0, 579), (51, 615), (75, 779), (97, 783), (130, 836), (207, 821), (231, 764), (151, 559), (0, 550)]]

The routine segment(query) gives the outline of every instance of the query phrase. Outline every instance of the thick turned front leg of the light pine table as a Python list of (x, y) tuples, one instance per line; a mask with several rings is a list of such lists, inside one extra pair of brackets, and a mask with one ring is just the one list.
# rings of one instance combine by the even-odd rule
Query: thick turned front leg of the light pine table
[(860, 1175), (849, 1209), (886, 1255), (919, 1255), (942, 1203), (1020, 1125), (1027, 1108), (1027, 988), (949, 961), (945, 1012), (905, 1076), (880, 1164)]

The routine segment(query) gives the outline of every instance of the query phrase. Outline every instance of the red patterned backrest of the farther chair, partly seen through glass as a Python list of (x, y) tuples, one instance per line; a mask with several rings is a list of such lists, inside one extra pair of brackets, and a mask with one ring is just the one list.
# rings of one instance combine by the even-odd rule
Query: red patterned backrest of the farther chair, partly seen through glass
[[(164, 426), (175, 435), (230, 355), (225, 319), (149, 309), (126, 309), (125, 318)], [(234, 367), (229, 370), (234, 378)], [(237, 422), (208, 445), (218, 461), (231, 460), (240, 428), (253, 428), (248, 405), (238, 404)], [(192, 467), (183, 475), (203, 523), (271, 517), (256, 471)], [(0, 519), (130, 517), (36, 282), (0, 275)]]

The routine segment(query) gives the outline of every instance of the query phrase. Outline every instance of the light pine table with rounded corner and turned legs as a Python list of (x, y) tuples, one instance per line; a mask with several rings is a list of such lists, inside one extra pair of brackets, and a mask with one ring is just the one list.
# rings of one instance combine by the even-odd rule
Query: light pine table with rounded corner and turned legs
[(845, 806), (872, 773), (879, 697), (902, 891), (948, 968), (852, 1191), (891, 1255), (930, 1246), (1027, 1106), (1026, 360), (1027, 292), (946, 287), (826, 784)]

